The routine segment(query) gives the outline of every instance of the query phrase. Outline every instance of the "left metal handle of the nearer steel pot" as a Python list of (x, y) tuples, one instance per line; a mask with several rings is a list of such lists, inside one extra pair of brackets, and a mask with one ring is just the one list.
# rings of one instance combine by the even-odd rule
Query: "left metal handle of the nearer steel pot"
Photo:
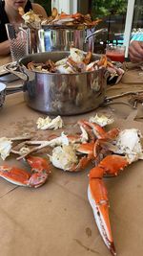
[(28, 75), (19, 71), (19, 65), (17, 62), (5, 65), (5, 69), (23, 81), (29, 81)]

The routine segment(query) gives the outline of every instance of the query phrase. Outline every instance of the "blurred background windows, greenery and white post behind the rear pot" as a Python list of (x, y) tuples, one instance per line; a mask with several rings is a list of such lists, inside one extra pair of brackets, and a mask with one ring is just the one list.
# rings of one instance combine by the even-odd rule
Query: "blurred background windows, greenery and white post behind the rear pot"
[(101, 18), (96, 29), (107, 32), (96, 35), (94, 52), (104, 53), (106, 44), (129, 45), (131, 39), (143, 40), (143, 0), (36, 0), (51, 15), (51, 9), (58, 12), (90, 13), (92, 19)]

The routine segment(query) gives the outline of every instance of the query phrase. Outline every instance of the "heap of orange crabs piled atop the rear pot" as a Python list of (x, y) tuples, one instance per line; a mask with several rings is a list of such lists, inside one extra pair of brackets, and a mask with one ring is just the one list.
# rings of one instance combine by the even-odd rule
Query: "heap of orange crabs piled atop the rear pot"
[(92, 21), (90, 14), (81, 14), (79, 12), (73, 14), (67, 14), (65, 12), (58, 13), (56, 8), (53, 8), (51, 11), (51, 16), (47, 19), (43, 19), (38, 14), (33, 11), (24, 12), (20, 7), (18, 12), (25, 20), (25, 23), (36, 29), (41, 25), (50, 25), (50, 26), (65, 26), (65, 27), (74, 27), (76, 29), (92, 28), (96, 26), (101, 19), (96, 19)]

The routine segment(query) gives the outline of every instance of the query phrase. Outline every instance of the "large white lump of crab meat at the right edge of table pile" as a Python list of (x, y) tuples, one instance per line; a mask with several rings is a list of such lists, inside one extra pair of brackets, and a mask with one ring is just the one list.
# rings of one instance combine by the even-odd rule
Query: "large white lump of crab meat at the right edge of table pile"
[(141, 133), (136, 128), (129, 128), (120, 131), (116, 146), (117, 153), (123, 153), (127, 156), (129, 163), (138, 159), (143, 159), (143, 149), (141, 145)]

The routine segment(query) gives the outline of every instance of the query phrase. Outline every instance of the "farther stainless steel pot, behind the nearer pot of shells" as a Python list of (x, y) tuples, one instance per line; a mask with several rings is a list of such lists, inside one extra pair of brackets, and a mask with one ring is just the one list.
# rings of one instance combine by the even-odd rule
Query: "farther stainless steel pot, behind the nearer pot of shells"
[(94, 35), (106, 29), (76, 29), (43, 25), (41, 29), (29, 29), (31, 53), (69, 51), (71, 46), (84, 50), (94, 50)]

